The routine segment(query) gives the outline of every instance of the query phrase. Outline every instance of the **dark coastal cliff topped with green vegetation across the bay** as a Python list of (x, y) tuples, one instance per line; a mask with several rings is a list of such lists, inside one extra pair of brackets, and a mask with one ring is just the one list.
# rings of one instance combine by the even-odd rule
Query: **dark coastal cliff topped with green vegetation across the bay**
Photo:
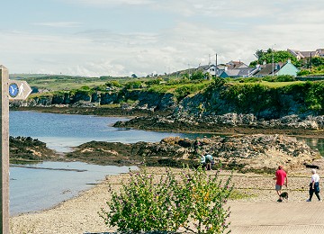
[[(222, 125), (324, 130), (324, 82), (266, 87), (257, 83), (232, 85), (216, 79), (193, 94), (183, 89), (175, 93), (157, 92), (148, 88), (62, 91), (31, 95), (26, 101), (11, 102), (10, 106), (13, 109), (79, 108), (78, 113), (94, 113), (94, 109), (100, 109), (104, 115), (104, 107), (111, 104), (121, 110), (151, 113), (148, 117), (116, 124), (118, 127), (148, 130), (161, 128), (161, 125), (166, 126), (167, 123), (171, 125), (160, 130), (174, 128), (175, 123), (178, 123), (179, 128), (186, 125), (190, 128), (196, 125)], [(169, 113), (167, 116), (160, 114), (166, 112)], [(143, 121), (147, 124), (140, 123)]]

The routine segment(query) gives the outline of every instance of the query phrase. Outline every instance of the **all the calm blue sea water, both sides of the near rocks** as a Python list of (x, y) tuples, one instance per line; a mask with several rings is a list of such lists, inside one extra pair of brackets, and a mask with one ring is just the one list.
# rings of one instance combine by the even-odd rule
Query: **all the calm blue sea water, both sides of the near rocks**
[[(125, 120), (127, 119), (76, 114), (10, 112), (10, 135), (40, 139), (58, 152), (70, 151), (73, 147), (91, 140), (157, 142), (170, 136), (194, 139), (205, 135), (112, 127), (114, 122)], [(304, 140), (311, 148), (319, 148), (324, 156), (324, 139)], [(10, 213), (16, 215), (48, 209), (90, 188), (91, 184), (103, 180), (104, 175), (125, 173), (128, 170), (127, 166), (95, 166), (80, 162), (43, 162), (27, 167), (10, 166)]]

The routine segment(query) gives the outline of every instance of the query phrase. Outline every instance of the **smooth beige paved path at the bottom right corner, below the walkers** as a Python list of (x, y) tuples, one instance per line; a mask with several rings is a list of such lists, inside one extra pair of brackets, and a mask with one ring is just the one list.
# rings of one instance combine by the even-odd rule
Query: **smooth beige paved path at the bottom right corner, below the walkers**
[(324, 202), (230, 202), (233, 234), (324, 234)]

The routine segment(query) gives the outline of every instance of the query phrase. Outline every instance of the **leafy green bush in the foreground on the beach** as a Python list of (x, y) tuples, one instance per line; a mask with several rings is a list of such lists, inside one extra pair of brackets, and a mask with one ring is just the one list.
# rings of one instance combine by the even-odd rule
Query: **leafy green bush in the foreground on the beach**
[(231, 176), (223, 182), (219, 170), (210, 176), (202, 167), (183, 169), (180, 179), (166, 168), (166, 175), (155, 181), (144, 168), (130, 174), (120, 193), (112, 193), (108, 211), (102, 208), (99, 215), (119, 231), (176, 231), (183, 227), (193, 233), (224, 233), (229, 228), (230, 212), (224, 205), (232, 191), (230, 181)]

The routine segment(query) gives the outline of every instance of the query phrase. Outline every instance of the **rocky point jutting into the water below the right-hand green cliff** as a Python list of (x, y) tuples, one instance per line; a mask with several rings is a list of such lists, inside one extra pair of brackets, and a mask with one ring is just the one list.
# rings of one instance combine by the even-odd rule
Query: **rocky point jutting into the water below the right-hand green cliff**
[[(251, 121), (248, 121), (251, 119)], [(285, 116), (272, 121), (257, 121), (253, 115), (236, 113), (214, 118), (175, 118), (167, 116), (139, 116), (130, 121), (117, 121), (114, 127), (139, 130), (166, 130), (182, 132), (203, 132), (217, 134), (284, 134), (324, 138), (324, 116), (301, 118)]]

